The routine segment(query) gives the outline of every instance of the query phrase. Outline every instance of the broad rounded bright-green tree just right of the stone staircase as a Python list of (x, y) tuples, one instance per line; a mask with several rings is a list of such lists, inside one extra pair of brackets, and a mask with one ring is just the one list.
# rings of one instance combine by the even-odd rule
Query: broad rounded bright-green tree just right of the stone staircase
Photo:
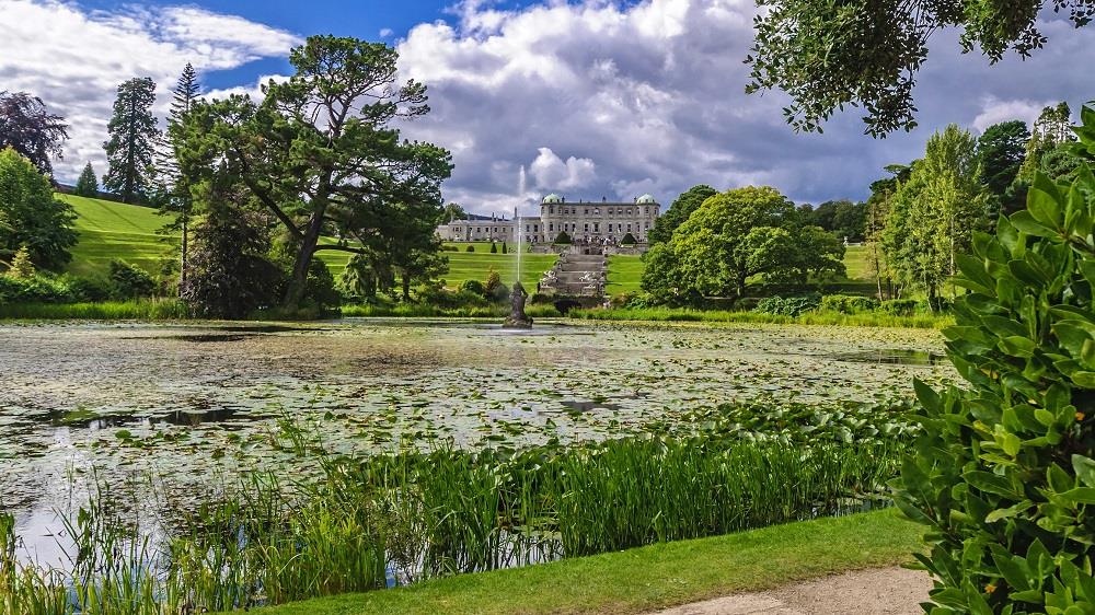
[[(822, 241), (817, 227), (802, 227), (794, 204), (771, 187), (746, 187), (703, 201), (669, 242), (647, 255), (643, 288), (655, 295), (700, 293), (742, 297), (753, 276), (802, 281), (832, 269), (843, 246)], [(662, 247), (664, 246), (664, 247)]]

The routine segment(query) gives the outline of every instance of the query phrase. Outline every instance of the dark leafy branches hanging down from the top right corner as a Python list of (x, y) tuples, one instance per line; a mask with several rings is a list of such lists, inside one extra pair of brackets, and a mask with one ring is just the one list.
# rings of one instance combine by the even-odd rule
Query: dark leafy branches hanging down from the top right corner
[[(963, 53), (977, 47), (991, 63), (1008, 48), (1026, 58), (1046, 42), (1037, 27), (1045, 5), (1041, 0), (758, 0), (746, 91), (780, 89), (791, 95), (784, 115), (795, 130), (820, 131), (846, 105), (864, 108), (869, 135), (911, 130), (917, 126), (912, 89), (933, 32), (958, 27)], [(1057, 0), (1052, 10), (1068, 11), (1079, 27), (1087, 25), (1095, 4)]]

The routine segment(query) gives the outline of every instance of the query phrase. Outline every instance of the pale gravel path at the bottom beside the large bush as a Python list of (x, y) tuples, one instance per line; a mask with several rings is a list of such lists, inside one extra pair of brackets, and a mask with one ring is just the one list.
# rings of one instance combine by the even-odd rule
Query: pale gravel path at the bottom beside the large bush
[(903, 568), (857, 570), (775, 590), (685, 604), (654, 615), (918, 615), (932, 582)]

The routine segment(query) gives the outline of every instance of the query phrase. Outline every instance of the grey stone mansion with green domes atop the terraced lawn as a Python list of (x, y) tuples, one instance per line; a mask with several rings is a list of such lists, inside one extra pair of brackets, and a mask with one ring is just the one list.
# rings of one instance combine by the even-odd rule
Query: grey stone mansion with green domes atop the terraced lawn
[[(504, 217), (469, 216), (468, 220), (452, 220), (437, 228), (442, 241), (449, 242), (522, 242), (549, 244), (565, 232), (575, 243), (612, 245), (631, 233), (638, 243), (646, 243), (646, 234), (657, 220), (660, 205), (650, 195), (643, 195), (632, 202), (579, 200), (567, 202), (564, 197), (550, 194), (540, 204), (540, 217), (507, 220)], [(519, 228), (520, 227), (520, 228)]]

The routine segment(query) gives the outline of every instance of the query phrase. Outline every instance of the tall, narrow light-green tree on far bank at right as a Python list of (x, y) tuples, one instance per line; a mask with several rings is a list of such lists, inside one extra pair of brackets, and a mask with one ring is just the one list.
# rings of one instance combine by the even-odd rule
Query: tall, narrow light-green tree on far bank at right
[(989, 195), (980, 181), (977, 146), (954, 124), (929, 140), (924, 159), (890, 201), (884, 246), (898, 279), (920, 285), (933, 309), (959, 254), (987, 220)]

